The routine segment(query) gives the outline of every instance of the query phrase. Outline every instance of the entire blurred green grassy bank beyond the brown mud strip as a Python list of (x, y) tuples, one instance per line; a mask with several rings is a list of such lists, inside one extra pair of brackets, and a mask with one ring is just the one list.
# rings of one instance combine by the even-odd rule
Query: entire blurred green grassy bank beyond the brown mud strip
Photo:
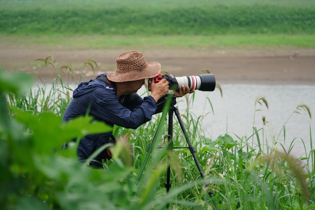
[(2, 1), (0, 8), (9, 43), (315, 47), (312, 1)]

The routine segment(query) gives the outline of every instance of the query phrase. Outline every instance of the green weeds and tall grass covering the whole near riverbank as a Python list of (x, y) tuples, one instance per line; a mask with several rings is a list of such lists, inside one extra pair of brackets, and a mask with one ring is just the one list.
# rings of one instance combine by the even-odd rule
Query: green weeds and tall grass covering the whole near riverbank
[[(57, 71), (52, 57), (42, 61), (53, 65)], [(78, 78), (86, 67), (97, 68), (93, 60), (88, 63), (79, 68)], [(69, 73), (69, 78), (77, 76), (73, 74), (72, 65), (61, 69)], [(277, 136), (277, 133), (273, 139), (267, 139), (263, 135), (264, 117), (262, 128), (254, 124), (250, 136), (226, 133), (216, 139), (209, 138), (201, 125), (203, 118), (214, 111), (212, 101), (208, 96), (204, 114), (195, 116), (189, 111), (194, 95), (198, 94), (195, 92), (186, 96), (187, 110), (182, 118), (206, 179), (200, 178), (188, 149), (170, 153), (154, 149), (144, 176), (136, 185), (146, 148), (159, 121), (162, 122), (158, 129), (159, 145), (166, 146), (167, 108), (162, 115), (156, 115), (136, 130), (109, 128), (100, 122), (91, 124), (90, 116), (63, 123), (61, 116), (71, 100), (72, 88), (69, 81), (62, 81), (58, 71), (49, 91), (46, 83), (36, 89), (25, 88), (30, 84), (27, 75), (0, 73), (3, 116), (0, 120), (0, 201), (3, 209), (163, 209), (167, 202), (171, 202), (173, 209), (213, 209), (208, 190), (214, 191), (219, 209), (315, 208), (315, 149), (311, 127), (310, 139), (307, 139), (311, 142), (310, 152), (297, 159), (290, 155), (296, 139), (291, 140), (289, 150), (278, 142), (282, 136), (285, 138), (285, 123), (280, 131), (283, 135)], [(16, 77), (24, 79), (16, 83)], [(220, 86), (217, 89), (222, 94)], [(25, 90), (27, 94), (23, 94)], [(254, 118), (259, 106), (267, 104), (265, 98), (256, 99)], [(306, 105), (298, 105), (292, 114), (303, 110), (311, 117)], [(76, 143), (62, 149), (62, 145), (74, 137), (109, 129), (120, 140), (112, 147), (112, 160), (103, 162), (104, 169), (87, 166), (99, 150), (80, 165), (76, 160)], [(174, 146), (186, 146), (178, 123), (174, 123), (173, 133)], [(279, 145), (284, 153), (278, 151)], [(109, 145), (101, 149), (106, 146)], [(306, 151), (305, 146), (304, 149)], [(172, 166), (172, 187), (165, 195), (167, 154)], [(204, 187), (205, 182), (209, 183), (209, 188)]]

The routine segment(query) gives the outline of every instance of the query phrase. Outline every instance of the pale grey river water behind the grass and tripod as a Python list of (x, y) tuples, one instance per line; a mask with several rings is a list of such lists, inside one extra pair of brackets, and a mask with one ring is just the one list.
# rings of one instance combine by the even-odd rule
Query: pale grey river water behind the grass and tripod
[[(315, 86), (223, 83), (221, 87), (223, 97), (218, 90), (214, 92), (196, 91), (194, 103), (190, 107), (192, 113), (200, 116), (212, 112), (207, 97), (211, 100), (214, 114), (208, 114), (202, 123), (208, 137), (216, 139), (219, 135), (225, 134), (226, 131), (235, 140), (238, 139), (235, 134), (239, 137), (245, 135), (249, 137), (253, 132), (255, 99), (265, 97), (269, 109), (265, 105), (257, 105), (256, 109), (261, 111), (256, 111), (255, 127), (257, 129), (262, 128), (261, 117), (266, 116), (264, 142), (266, 143), (267, 138), (268, 144), (272, 144), (272, 136), (277, 138), (284, 123), (298, 105), (306, 104), (309, 106), (313, 118), (310, 119), (305, 110), (300, 110), (301, 114), (294, 113), (285, 125), (285, 142), (283, 131), (278, 138), (278, 142), (282, 143), (286, 150), (288, 150), (292, 140), (298, 138), (295, 140), (294, 148), (290, 153), (295, 157), (305, 157), (305, 153), (309, 153), (311, 149), (310, 128), (312, 135), (315, 134)], [(51, 85), (48, 85), (47, 88), (51, 88)], [(143, 86), (138, 94), (144, 92), (145, 87)], [(177, 106), (180, 112), (184, 114), (186, 101), (184, 98), (182, 99)], [(259, 131), (260, 138), (262, 138), (261, 131)], [(301, 139), (305, 143), (306, 152)], [(315, 147), (314, 139), (315, 137), (312, 140), (313, 147)], [(257, 144), (255, 136), (254, 144)], [(280, 145), (277, 145), (277, 148), (280, 151), (283, 150)]]

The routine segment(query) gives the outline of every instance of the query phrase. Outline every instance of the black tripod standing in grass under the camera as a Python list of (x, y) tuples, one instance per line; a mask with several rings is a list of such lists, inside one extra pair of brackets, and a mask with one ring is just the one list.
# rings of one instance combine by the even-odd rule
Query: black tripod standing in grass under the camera
[[(184, 127), (184, 123), (181, 120), (179, 110), (175, 106), (176, 105), (176, 96), (174, 94), (166, 94), (164, 97), (165, 97), (165, 100), (167, 100), (167, 99), (171, 100), (171, 104), (169, 106), (169, 121), (168, 121), (168, 149), (169, 150), (184, 149), (184, 148), (189, 149), (189, 151), (192, 154), (192, 157), (193, 157), (193, 159), (194, 159), (194, 161), (196, 163), (196, 166), (198, 168), (200, 176), (203, 179), (205, 179), (205, 177), (203, 175), (203, 172), (202, 172), (202, 169), (200, 167), (200, 164), (198, 162), (197, 156), (195, 154), (196, 153), (196, 149), (195, 149), (195, 147), (192, 146), (192, 143), (191, 143), (191, 141), (190, 141), (190, 139), (188, 137), (187, 131), (186, 131), (185, 127)], [(174, 145), (174, 142), (173, 142), (173, 113), (175, 113), (175, 115), (177, 117), (177, 120), (178, 120), (178, 122), (180, 124), (180, 128), (181, 128), (182, 132), (184, 133), (184, 136), (185, 136), (185, 139), (186, 139), (188, 147), (174, 147), (173, 146)], [(161, 121), (159, 122), (157, 130), (159, 129), (160, 124), (161, 124)], [(138, 175), (137, 182), (136, 182), (137, 184), (138, 184), (138, 182), (139, 182), (139, 180), (141, 178), (141, 175), (142, 175), (142, 173), (144, 171), (144, 167), (146, 165), (146, 162), (148, 161), (149, 156), (152, 153), (154, 141), (156, 140), (156, 135), (157, 135), (157, 131), (154, 134), (154, 137), (153, 137), (153, 140), (151, 141), (150, 146), (148, 146), (147, 149), (146, 149), (146, 151), (147, 151), (146, 158), (145, 158), (144, 163), (143, 163), (143, 165), (142, 165), (142, 167), (140, 169), (140, 173)], [(163, 147), (157, 147), (157, 148), (163, 148)], [(168, 156), (168, 159), (169, 159), (169, 156)], [(208, 186), (209, 185), (206, 184), (206, 187), (208, 187)], [(165, 182), (165, 188), (166, 188), (166, 192), (167, 193), (169, 192), (170, 187), (171, 187), (171, 183), (170, 183), (170, 164), (168, 162), (167, 177), (166, 177), (166, 182)], [(217, 209), (216, 203), (215, 203), (215, 201), (213, 200), (213, 197), (212, 197), (213, 192), (210, 191), (208, 194), (209, 194), (209, 196), (210, 196), (210, 198), (211, 198), (215, 208)], [(169, 209), (169, 203), (167, 204), (166, 209)]]

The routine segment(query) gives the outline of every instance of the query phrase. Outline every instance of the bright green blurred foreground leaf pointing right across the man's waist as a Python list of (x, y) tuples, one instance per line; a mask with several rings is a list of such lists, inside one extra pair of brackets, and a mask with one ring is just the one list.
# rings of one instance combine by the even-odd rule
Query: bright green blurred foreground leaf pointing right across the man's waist
[(38, 116), (30, 112), (14, 109), (14, 118), (32, 130), (36, 153), (51, 153), (61, 149), (66, 142), (82, 138), (87, 134), (106, 133), (111, 127), (103, 122), (92, 121), (91, 116), (77, 117), (69, 122), (62, 122), (61, 117), (53, 113), (41, 113)]

